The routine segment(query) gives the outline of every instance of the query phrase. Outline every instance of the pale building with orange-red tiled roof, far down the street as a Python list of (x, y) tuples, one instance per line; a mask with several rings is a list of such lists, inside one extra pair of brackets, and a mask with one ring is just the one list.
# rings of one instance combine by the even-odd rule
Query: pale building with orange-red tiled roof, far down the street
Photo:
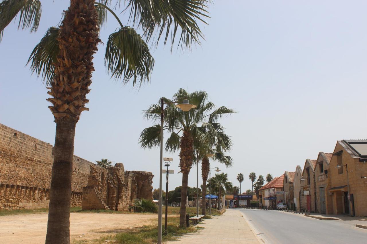
[(283, 189), (284, 174), (275, 177), (259, 189), (260, 205), (276, 209), (279, 202), (284, 202)]

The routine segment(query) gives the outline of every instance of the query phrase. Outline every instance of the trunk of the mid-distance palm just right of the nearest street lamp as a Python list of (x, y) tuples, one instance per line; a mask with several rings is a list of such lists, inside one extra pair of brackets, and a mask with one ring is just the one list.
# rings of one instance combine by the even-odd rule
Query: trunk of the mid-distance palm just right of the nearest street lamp
[(184, 130), (180, 142), (180, 169), (182, 173), (180, 227), (186, 227), (186, 196), (189, 173), (193, 163), (193, 139), (190, 132)]

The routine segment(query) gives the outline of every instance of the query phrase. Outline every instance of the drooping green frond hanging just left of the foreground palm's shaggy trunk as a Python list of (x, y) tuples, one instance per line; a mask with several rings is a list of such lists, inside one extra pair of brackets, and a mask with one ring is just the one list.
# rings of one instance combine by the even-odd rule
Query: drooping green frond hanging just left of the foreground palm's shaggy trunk
[(32, 73), (36, 73), (46, 84), (50, 84), (54, 80), (54, 63), (60, 52), (57, 38), (59, 37), (60, 29), (57, 27), (48, 28), (45, 36), (39, 44), (34, 47), (29, 56), (27, 64), (30, 64)]

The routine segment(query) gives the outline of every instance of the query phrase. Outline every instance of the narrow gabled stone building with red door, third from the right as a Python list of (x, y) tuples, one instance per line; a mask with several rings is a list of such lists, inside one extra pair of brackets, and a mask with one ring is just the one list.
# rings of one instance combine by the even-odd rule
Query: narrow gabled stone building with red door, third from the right
[(306, 159), (301, 179), (301, 209), (315, 212), (315, 165), (316, 159)]

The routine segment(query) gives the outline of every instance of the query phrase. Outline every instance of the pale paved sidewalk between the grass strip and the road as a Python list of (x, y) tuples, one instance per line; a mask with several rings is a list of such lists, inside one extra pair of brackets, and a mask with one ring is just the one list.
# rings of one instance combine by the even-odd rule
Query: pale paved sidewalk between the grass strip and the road
[(168, 241), (167, 243), (259, 244), (241, 212), (236, 209), (227, 209), (221, 216), (204, 219), (197, 226), (205, 229), (199, 230), (198, 233), (185, 234), (178, 241)]

